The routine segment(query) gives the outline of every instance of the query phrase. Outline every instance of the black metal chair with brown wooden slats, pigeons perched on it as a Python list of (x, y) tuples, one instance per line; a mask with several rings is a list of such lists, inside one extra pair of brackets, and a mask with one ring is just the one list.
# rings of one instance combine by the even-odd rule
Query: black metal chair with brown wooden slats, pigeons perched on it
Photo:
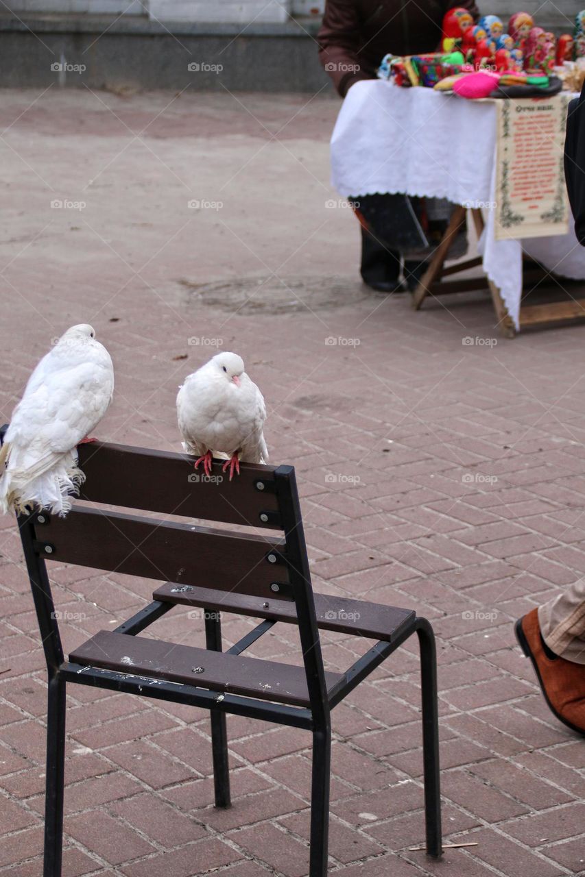
[[(4, 437), (4, 430), (0, 438)], [(293, 467), (242, 465), (234, 481), (193, 474), (192, 458), (110, 444), (79, 447), (86, 475), (67, 517), (18, 517), (48, 671), (44, 877), (60, 877), (68, 683), (108, 688), (210, 710), (215, 804), (230, 805), (226, 713), (292, 725), (313, 734), (310, 877), (328, 863), (330, 711), (394, 649), (416, 633), (421, 649), (427, 852), (441, 855), (437, 664), (433, 631), (412, 610), (314, 594)], [(266, 537), (99, 505), (282, 531)], [(153, 602), (113, 631), (100, 631), (66, 660), (47, 560), (164, 581)], [(205, 613), (206, 649), (140, 637), (177, 603)], [(220, 611), (264, 619), (221, 651)], [(241, 657), (277, 622), (296, 624), (303, 667)], [(319, 629), (379, 642), (346, 673), (323, 668)]]

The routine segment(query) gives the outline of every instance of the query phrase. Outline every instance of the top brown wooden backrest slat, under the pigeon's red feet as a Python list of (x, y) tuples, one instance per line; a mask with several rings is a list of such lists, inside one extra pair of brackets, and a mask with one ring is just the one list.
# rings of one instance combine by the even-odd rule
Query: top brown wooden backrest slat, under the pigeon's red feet
[(229, 481), (221, 464), (214, 463), (213, 478), (223, 479), (215, 482), (202, 480), (201, 467), (195, 472), (194, 458), (183, 453), (103, 442), (80, 445), (78, 452), (86, 475), (80, 499), (275, 529), (275, 524), (261, 521), (260, 515), (278, 511), (277, 497), (256, 488), (259, 479), (273, 482), (273, 466), (242, 463), (241, 474)]

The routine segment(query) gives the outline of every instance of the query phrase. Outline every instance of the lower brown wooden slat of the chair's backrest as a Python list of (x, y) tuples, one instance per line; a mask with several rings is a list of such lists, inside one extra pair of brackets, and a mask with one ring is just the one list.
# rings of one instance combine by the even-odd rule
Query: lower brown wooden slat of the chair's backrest
[[(282, 538), (81, 507), (36, 524), (35, 533), (41, 555), (60, 563), (264, 597), (272, 595), (271, 582), (288, 581), (285, 564), (266, 560), (271, 549), (283, 549)], [(50, 553), (42, 550), (46, 543)]]

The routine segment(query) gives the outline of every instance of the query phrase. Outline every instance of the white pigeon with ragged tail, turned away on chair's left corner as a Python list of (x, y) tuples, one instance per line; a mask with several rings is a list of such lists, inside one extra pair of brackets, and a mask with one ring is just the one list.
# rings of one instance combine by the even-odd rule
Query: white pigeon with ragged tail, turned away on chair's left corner
[(76, 446), (112, 402), (113, 366), (90, 325), (71, 326), (40, 360), (0, 450), (0, 510), (65, 515), (85, 476)]

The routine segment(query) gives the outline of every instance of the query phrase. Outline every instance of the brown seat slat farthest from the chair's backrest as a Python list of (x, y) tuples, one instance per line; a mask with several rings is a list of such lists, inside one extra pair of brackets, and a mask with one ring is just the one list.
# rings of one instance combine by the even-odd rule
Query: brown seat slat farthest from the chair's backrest
[[(173, 588), (177, 588), (177, 585), (167, 581), (160, 588), (156, 588), (153, 600), (297, 624), (294, 603), (275, 600), (273, 595), (262, 600), (249, 595), (223, 594), (210, 588), (196, 588), (191, 591), (177, 591)], [(405, 626), (412, 624), (416, 617), (413, 610), (332, 597), (328, 594), (314, 594), (314, 608), (317, 624), (322, 630), (352, 633), (354, 636), (382, 639), (388, 643), (399, 636)]]

